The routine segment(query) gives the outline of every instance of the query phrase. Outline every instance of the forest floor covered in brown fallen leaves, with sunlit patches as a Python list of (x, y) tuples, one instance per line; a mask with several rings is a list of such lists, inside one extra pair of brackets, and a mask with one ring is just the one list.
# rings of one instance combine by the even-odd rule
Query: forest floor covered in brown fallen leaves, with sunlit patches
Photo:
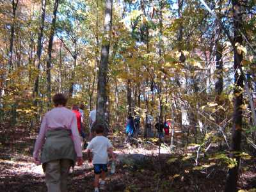
[[(22, 126), (12, 132), (5, 128), (0, 129), (0, 191), (47, 191), (42, 166), (31, 157), (36, 135)], [(198, 156), (195, 166), (193, 148), (170, 151), (162, 144), (159, 156), (156, 138), (138, 138), (132, 145), (124, 144), (121, 132), (109, 138), (118, 163), (116, 173), (108, 175), (105, 191), (223, 191), (227, 162), (216, 157), (214, 149)], [(93, 191), (93, 167), (85, 151), (84, 160), (83, 166), (70, 170), (68, 191)], [(239, 189), (256, 188), (255, 157), (242, 160), (239, 173)]]

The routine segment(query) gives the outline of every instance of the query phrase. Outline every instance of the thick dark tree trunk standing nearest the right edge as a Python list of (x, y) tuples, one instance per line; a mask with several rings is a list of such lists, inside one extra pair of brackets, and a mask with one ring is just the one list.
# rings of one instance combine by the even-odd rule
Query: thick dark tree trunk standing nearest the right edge
[[(232, 0), (232, 10), (234, 19), (234, 44), (242, 44), (243, 37), (240, 30), (243, 30), (242, 25), (242, 14), (241, 14), (241, 4), (239, 0)], [(237, 48), (237, 47), (236, 47)], [(241, 132), (242, 132), (242, 113), (243, 109), (241, 105), (243, 104), (243, 76), (238, 73), (239, 67), (241, 67), (241, 61), (243, 60), (243, 53), (238, 52), (234, 49), (234, 114), (233, 114), (233, 127), (232, 127), (232, 140), (231, 140), (231, 157), (236, 158), (236, 166), (228, 170), (227, 182), (225, 186), (225, 192), (237, 191), (237, 179), (238, 179), (238, 168), (240, 158), (236, 156), (234, 152), (240, 152), (241, 150)]]

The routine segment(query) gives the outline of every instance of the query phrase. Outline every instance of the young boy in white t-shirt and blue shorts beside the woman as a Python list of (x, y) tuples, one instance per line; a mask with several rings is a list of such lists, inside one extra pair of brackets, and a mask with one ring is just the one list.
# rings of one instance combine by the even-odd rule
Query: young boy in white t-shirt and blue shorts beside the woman
[[(90, 141), (88, 149), (89, 163), (93, 163), (94, 167), (94, 191), (99, 192), (99, 179), (100, 189), (104, 189), (106, 172), (108, 172), (108, 152), (111, 154), (113, 161), (115, 161), (115, 156), (113, 154), (113, 147), (108, 140), (108, 138), (103, 136), (104, 126), (102, 124), (97, 124), (94, 126), (96, 136)], [(93, 158), (92, 158), (93, 154)]]

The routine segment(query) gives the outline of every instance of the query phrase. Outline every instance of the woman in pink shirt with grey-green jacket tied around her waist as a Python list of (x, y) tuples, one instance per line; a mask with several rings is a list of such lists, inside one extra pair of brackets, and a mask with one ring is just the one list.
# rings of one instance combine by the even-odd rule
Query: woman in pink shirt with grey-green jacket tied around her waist
[(48, 111), (42, 120), (33, 158), (36, 164), (43, 164), (48, 192), (67, 192), (70, 166), (74, 167), (76, 161), (78, 165), (83, 164), (81, 140), (76, 115), (65, 108), (67, 97), (57, 93), (52, 100), (55, 108)]

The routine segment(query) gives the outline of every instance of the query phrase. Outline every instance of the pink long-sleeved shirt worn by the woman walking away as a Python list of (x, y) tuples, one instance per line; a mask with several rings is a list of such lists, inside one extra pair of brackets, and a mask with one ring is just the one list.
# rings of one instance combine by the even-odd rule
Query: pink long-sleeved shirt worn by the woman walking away
[(63, 129), (71, 130), (72, 139), (77, 157), (82, 157), (81, 139), (77, 129), (76, 114), (65, 107), (57, 107), (48, 111), (42, 121), (38, 137), (36, 139), (33, 157), (38, 159), (39, 151), (45, 142), (45, 134), (48, 130), (63, 127)]

